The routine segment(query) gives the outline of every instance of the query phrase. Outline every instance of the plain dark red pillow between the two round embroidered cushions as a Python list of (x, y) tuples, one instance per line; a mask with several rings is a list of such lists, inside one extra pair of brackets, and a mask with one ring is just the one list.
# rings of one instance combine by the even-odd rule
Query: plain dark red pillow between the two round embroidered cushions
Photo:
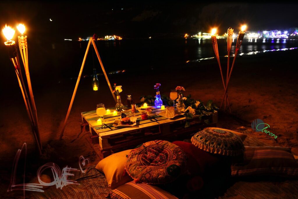
[(205, 172), (206, 168), (220, 161), (218, 156), (199, 149), (191, 143), (174, 141), (173, 144), (179, 146), (186, 153), (186, 168), (191, 175), (201, 175)]

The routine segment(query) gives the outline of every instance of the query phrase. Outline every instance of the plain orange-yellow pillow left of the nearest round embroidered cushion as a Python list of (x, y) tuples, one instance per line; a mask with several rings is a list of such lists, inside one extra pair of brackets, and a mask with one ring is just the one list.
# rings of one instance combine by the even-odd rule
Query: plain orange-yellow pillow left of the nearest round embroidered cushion
[(108, 186), (111, 189), (116, 189), (125, 183), (133, 181), (133, 179), (127, 174), (124, 174), (124, 166), (127, 160), (127, 155), (131, 149), (114, 153), (104, 159), (102, 159), (97, 165), (96, 169), (105, 174), (107, 178)]

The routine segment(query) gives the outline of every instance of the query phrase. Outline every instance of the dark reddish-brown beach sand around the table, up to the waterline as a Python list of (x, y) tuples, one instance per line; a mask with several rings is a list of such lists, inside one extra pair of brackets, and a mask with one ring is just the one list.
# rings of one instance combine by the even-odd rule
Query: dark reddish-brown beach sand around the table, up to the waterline
[[(254, 119), (262, 119), (270, 125), (267, 130), (277, 135), (277, 139), (269, 140), (269, 135), (264, 132), (251, 131), (249, 135), (271, 146), (291, 147), (293, 154), (298, 155), (297, 53), (297, 50), (291, 50), (239, 56), (229, 84), (232, 114), (220, 111), (217, 127), (236, 129), (244, 126), (251, 129)], [(222, 58), (221, 62), (226, 68), (226, 58)], [(23, 194), (22, 191), (7, 192), (7, 189), (13, 159), (24, 143), (27, 144), (26, 182), (36, 177), (38, 167), (47, 162), (54, 162), (62, 169), (65, 166), (78, 168), (81, 155), (90, 158), (91, 164), (100, 160), (87, 141), (89, 134), (80, 133), (81, 112), (94, 110), (99, 103), (104, 103), (106, 107), (115, 105), (103, 76), (99, 78), (98, 92), (92, 91), (90, 79), (82, 78), (62, 141), (58, 138), (76, 80), (43, 82), (42, 86), (35, 87), (39, 83), (32, 82), (44, 148), (41, 157), (35, 146), (18, 84), (15, 79), (7, 79), (10, 88), (3, 88), (4, 96), (7, 97), (0, 104), (0, 198), (21, 197)], [(162, 66), (156, 66), (155, 70), (148, 69), (148, 73), (139, 74), (136, 69), (110, 75), (109, 78), (111, 84), (116, 82), (122, 85), (122, 99), (128, 93), (137, 100), (141, 95), (154, 95), (155, 83), (162, 84), (161, 94), (169, 95), (170, 89), (183, 86), (186, 88), (184, 95), (191, 94), (205, 103), (212, 99), (218, 106), (224, 93), (215, 59), (187, 63), (172, 71), (164, 71)], [(19, 163), (18, 169), (23, 168)], [(21, 176), (19, 172), (19, 183), (22, 181)], [(26, 192), (26, 195), (29, 193)]]

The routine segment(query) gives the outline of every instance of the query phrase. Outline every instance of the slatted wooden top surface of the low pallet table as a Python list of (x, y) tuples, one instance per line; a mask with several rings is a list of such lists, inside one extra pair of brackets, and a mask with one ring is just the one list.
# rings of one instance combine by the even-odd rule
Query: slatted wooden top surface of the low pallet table
[[(173, 123), (176, 121), (181, 121), (186, 119), (183, 115), (177, 116), (173, 119), (168, 119), (162, 115), (156, 115), (156, 113), (160, 113), (165, 110), (161, 110), (161, 108), (155, 108), (153, 109), (152, 113), (148, 115), (147, 120), (142, 120), (141, 112), (138, 111), (139, 109), (141, 109), (141, 107), (137, 108), (137, 112), (135, 113), (135, 116), (137, 117), (136, 125), (133, 127), (126, 127), (126, 128), (117, 128), (113, 126), (115, 119), (120, 119), (121, 113), (122, 113), (122, 112), (117, 112), (117, 115), (113, 115), (114, 109), (110, 109), (111, 114), (108, 114), (108, 115), (106, 114), (103, 116), (104, 118), (103, 123), (106, 124), (111, 129), (110, 128), (100, 129), (101, 125), (97, 124), (97, 120), (100, 118), (100, 116), (96, 114), (96, 110), (82, 112), (82, 117), (88, 122), (88, 124), (94, 129), (94, 131), (102, 138), (110, 137), (111, 135), (116, 135), (123, 132), (135, 131), (137, 129), (158, 126), (165, 123)], [(131, 109), (125, 109), (123, 112), (125, 113), (126, 111), (131, 111)], [(158, 123), (152, 118), (155, 118)]]

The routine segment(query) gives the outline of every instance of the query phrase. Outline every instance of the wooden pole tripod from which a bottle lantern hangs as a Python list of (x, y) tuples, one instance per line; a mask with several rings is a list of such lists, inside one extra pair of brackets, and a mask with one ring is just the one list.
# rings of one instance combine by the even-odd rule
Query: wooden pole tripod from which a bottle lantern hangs
[(67, 119), (68, 119), (68, 117), (69, 117), (70, 110), (72, 109), (72, 104), (73, 104), (74, 99), (75, 99), (75, 94), (76, 94), (76, 92), (77, 92), (77, 87), (79, 86), (79, 82), (80, 82), (80, 79), (81, 79), (81, 75), (82, 75), (82, 72), (83, 72), (83, 68), (84, 68), (84, 65), (85, 65), (85, 61), (86, 61), (86, 58), (87, 58), (88, 51), (89, 51), (89, 48), (90, 48), (90, 44), (91, 44), (91, 43), (92, 43), (92, 45), (93, 45), (93, 47), (94, 47), (95, 53), (96, 53), (96, 55), (97, 55), (98, 61), (99, 61), (99, 63), (100, 63), (101, 69), (102, 69), (102, 71), (103, 71), (103, 75), (105, 76), (105, 80), (106, 80), (107, 83), (108, 83), (108, 86), (109, 86), (109, 88), (110, 88), (110, 91), (111, 91), (111, 93), (112, 93), (112, 95), (113, 95), (113, 98), (114, 98), (115, 102), (117, 102), (117, 99), (116, 99), (116, 97), (115, 97), (115, 95), (114, 95), (114, 93), (113, 93), (113, 89), (112, 89), (112, 87), (111, 87), (110, 81), (109, 81), (109, 79), (108, 79), (107, 73), (105, 72), (105, 68), (103, 67), (103, 62), (101, 61), (101, 58), (100, 58), (100, 56), (99, 56), (99, 53), (98, 53), (97, 47), (96, 47), (96, 45), (95, 45), (94, 39), (93, 39), (92, 37), (90, 37), (89, 42), (88, 42), (88, 45), (87, 45), (87, 49), (86, 49), (86, 52), (85, 52), (85, 56), (84, 56), (84, 59), (83, 59), (83, 62), (82, 62), (81, 70), (80, 70), (79, 76), (78, 76), (78, 78), (77, 78), (77, 83), (76, 83), (76, 85), (75, 85), (75, 90), (74, 90), (74, 92), (73, 92), (73, 94), (72, 94), (72, 99), (71, 99), (71, 101), (70, 101), (70, 104), (69, 104), (69, 107), (68, 107), (68, 111), (67, 111), (67, 114), (66, 114), (66, 118), (65, 118), (65, 121), (64, 121), (64, 124), (63, 124), (63, 128), (62, 128), (62, 131), (61, 131), (61, 133), (60, 133), (60, 140), (61, 140), (62, 137), (63, 137), (63, 133), (64, 133), (64, 129), (65, 129), (65, 126), (66, 126), (66, 123), (67, 123)]

